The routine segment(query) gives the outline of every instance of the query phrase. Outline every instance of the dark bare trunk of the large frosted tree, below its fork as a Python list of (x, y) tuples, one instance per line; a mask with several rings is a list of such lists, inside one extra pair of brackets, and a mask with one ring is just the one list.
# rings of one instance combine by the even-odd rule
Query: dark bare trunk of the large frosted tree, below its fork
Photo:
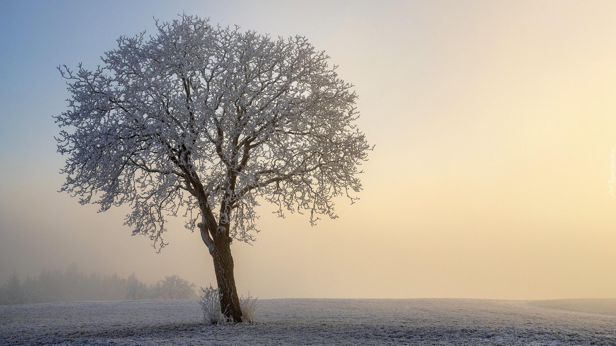
[(228, 237), (225, 238), (214, 240), (214, 253), (212, 254), (216, 282), (221, 294), (221, 312), (234, 322), (241, 322), (240, 300), (237, 297), (235, 277), (233, 276), (231, 242)]

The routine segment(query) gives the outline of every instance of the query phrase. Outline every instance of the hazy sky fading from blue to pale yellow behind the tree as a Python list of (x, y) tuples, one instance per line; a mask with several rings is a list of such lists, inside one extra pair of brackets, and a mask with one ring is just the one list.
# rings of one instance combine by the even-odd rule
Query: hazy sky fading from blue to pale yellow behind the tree
[(238, 292), (271, 298), (616, 297), (616, 2), (0, 2), (0, 283), (43, 268), (215, 276), (198, 233), (172, 220), (160, 254), (57, 190), (56, 67), (86, 68), (153, 18), (208, 17), (306, 36), (354, 84), (375, 145), (357, 203), (310, 226), (259, 209), (234, 242)]

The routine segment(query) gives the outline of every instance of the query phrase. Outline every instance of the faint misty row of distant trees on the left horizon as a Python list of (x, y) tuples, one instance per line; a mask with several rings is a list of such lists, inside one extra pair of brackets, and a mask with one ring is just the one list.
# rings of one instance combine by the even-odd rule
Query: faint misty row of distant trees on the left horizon
[(128, 279), (116, 275), (78, 272), (73, 264), (66, 271), (43, 270), (39, 276), (20, 280), (17, 272), (0, 289), (0, 305), (96, 300), (198, 299), (196, 285), (177, 275), (165, 276), (148, 286), (134, 273)]

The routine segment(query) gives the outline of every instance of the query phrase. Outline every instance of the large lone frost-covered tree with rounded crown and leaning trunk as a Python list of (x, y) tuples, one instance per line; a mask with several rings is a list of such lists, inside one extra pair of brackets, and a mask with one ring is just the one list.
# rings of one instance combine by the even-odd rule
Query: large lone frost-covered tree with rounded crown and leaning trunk
[(257, 201), (314, 224), (336, 217), (334, 196), (361, 190), (370, 147), (354, 124), (357, 95), (304, 37), (186, 15), (156, 26), (118, 39), (94, 71), (60, 68), (72, 94), (56, 117), (62, 190), (100, 211), (130, 204), (132, 234), (159, 251), (166, 217), (187, 217), (213, 257), (221, 310), (239, 322), (230, 244), (254, 240)]

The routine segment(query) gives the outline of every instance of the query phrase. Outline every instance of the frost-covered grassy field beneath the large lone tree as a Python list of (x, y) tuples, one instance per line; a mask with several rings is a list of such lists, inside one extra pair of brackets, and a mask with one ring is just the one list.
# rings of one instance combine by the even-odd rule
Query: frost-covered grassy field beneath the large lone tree
[[(7, 305), (0, 306), (0, 344), (616, 345), (616, 316), (526, 304), (274, 299), (262, 301), (259, 323), (233, 326), (201, 324), (195, 300)], [(579, 308), (583, 302), (574, 305)]]

